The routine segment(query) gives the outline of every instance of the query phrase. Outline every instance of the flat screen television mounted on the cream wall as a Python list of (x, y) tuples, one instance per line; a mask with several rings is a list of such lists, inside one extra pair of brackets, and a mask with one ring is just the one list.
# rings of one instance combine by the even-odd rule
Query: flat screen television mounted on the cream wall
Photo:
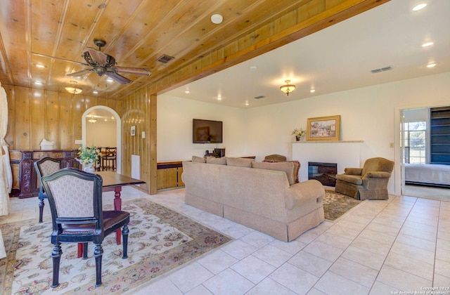
[(193, 119), (192, 120), (193, 143), (222, 143), (222, 122)]

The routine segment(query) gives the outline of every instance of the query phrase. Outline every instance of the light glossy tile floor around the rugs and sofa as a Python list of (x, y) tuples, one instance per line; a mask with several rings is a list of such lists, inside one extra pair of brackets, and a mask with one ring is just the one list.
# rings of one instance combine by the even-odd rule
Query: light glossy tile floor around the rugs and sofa
[[(184, 188), (151, 196), (129, 187), (122, 191), (124, 201), (139, 197), (233, 241), (132, 294), (378, 295), (430, 287), (444, 289), (428, 294), (450, 294), (450, 202), (409, 196), (368, 200), (286, 243), (184, 204)], [(105, 193), (104, 200), (112, 203), (113, 194)], [(45, 208), (44, 220), (50, 218)], [(36, 198), (13, 198), (11, 214), (0, 223), (37, 216)]]

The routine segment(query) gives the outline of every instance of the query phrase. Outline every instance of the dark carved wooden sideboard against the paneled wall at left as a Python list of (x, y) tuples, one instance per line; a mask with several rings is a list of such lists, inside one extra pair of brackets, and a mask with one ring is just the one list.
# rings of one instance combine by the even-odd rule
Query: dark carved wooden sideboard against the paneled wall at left
[(39, 195), (39, 181), (34, 171), (34, 162), (44, 157), (60, 159), (63, 167), (79, 168), (75, 159), (78, 150), (10, 150), (13, 172), (13, 189), (18, 189), (20, 199)]

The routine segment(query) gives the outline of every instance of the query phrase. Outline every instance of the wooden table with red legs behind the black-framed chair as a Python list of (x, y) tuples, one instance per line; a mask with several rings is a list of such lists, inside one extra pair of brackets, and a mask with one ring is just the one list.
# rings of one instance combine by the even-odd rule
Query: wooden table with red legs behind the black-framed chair
[[(136, 178), (131, 178), (123, 174), (113, 171), (96, 171), (96, 174), (103, 178), (102, 192), (115, 192), (114, 194), (114, 210), (122, 210), (122, 199), (120, 198), (120, 192), (122, 192), (122, 186), (125, 185), (138, 185), (146, 183)], [(115, 240), (120, 245), (121, 231), (115, 232)], [(83, 244), (78, 244), (78, 257), (83, 254)]]

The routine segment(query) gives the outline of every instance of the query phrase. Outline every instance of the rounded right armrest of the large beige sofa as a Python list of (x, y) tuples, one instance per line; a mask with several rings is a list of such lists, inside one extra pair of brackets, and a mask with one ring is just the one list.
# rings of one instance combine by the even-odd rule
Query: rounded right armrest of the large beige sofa
[(319, 199), (322, 202), (325, 197), (323, 185), (314, 179), (290, 185), (285, 194), (285, 208), (293, 209), (311, 199)]

